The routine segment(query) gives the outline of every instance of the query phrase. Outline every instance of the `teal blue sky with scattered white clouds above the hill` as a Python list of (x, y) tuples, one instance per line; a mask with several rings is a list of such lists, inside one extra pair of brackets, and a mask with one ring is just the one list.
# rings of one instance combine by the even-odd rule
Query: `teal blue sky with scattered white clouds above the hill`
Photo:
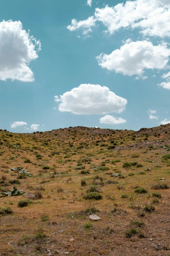
[(0, 128), (170, 123), (169, 0), (2, 1)]

